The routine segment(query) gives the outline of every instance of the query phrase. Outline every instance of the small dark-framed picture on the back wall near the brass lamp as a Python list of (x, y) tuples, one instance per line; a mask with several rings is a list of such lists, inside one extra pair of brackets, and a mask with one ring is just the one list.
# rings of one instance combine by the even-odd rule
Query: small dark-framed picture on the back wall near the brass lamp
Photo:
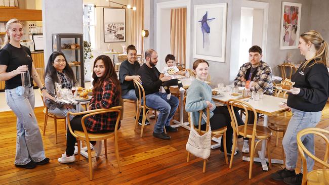
[(103, 8), (104, 42), (126, 41), (126, 9)]

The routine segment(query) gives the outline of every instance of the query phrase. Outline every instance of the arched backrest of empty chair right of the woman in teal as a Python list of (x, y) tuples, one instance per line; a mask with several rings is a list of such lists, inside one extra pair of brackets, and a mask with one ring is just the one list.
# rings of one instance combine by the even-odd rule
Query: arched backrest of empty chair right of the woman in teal
[(234, 107), (239, 107), (242, 110), (244, 110), (245, 113), (245, 119), (243, 120), (244, 126), (243, 126), (243, 137), (246, 137), (246, 131), (247, 131), (247, 125), (248, 125), (248, 117), (249, 117), (249, 112), (248, 110), (252, 111), (252, 114), (254, 114), (254, 126), (253, 126), (253, 138), (258, 137), (257, 135), (257, 112), (256, 110), (248, 103), (240, 101), (240, 100), (235, 100), (235, 99), (230, 99), (228, 100), (227, 108), (228, 112), (230, 113), (231, 117), (231, 126), (233, 128), (233, 132), (236, 132), (237, 135), (239, 135), (239, 128), (238, 128), (238, 123), (236, 119), (236, 115), (234, 114)]

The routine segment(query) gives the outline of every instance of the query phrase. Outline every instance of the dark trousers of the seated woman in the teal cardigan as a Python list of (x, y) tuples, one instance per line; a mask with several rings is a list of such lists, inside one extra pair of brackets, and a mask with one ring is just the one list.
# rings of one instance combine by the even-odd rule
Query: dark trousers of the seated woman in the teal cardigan
[[(228, 112), (228, 109), (226, 106), (216, 107), (216, 109), (213, 111), (214, 115), (210, 118), (210, 126), (212, 130), (216, 130), (219, 128), (222, 128), (224, 126), (227, 127), (226, 130), (226, 149), (227, 153), (231, 153), (232, 150), (232, 144), (233, 144), (233, 128), (231, 126), (231, 117), (230, 113)], [(236, 116), (236, 120), (238, 122), (238, 125), (242, 125), (243, 121), (238, 113), (238, 109), (234, 108), (234, 114)], [(201, 130), (205, 130), (206, 125), (201, 125)], [(220, 150), (224, 151), (224, 145), (223, 141), (221, 140), (221, 147)]]

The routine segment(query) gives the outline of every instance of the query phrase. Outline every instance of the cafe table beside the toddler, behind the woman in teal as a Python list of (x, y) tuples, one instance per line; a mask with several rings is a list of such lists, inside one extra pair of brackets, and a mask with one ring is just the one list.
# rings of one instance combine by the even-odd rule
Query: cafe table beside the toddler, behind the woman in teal
[[(186, 76), (182, 76), (182, 75), (174, 75), (174, 76), (175, 76), (175, 78), (180, 79), (182, 81), (184, 89), (187, 89), (193, 81), (193, 79), (190, 77), (186, 77)], [(209, 81), (206, 81), (206, 83), (210, 84)], [(178, 85), (173, 85), (173, 86), (170, 86), (170, 90), (171, 90), (171, 92), (179, 92), (179, 87), (178, 87)], [(181, 100), (180, 100), (179, 121), (173, 120), (173, 123), (175, 123), (175, 125), (171, 125), (171, 126), (174, 128), (181, 126), (181, 127), (184, 127), (189, 130), (190, 129), (190, 126), (188, 126), (189, 122), (184, 122), (184, 91), (180, 91), (180, 94), (181, 94)]]

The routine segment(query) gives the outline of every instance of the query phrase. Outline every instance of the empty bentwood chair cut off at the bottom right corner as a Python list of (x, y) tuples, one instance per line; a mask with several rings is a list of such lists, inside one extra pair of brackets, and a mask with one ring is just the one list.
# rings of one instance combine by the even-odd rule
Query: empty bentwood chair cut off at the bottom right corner
[[(305, 146), (301, 138), (306, 134), (314, 134), (314, 136), (318, 136), (319, 138), (323, 138), (325, 143), (325, 153), (323, 160), (319, 159), (318, 157), (314, 156), (310, 153)], [(329, 164), (328, 164), (328, 157), (329, 157), (329, 140), (328, 140), (329, 130), (321, 129), (321, 128), (306, 128), (297, 133), (297, 145), (298, 151), (302, 157), (303, 163), (303, 181), (302, 185), (305, 184), (329, 184)], [(322, 143), (322, 142), (320, 142)], [(319, 146), (321, 148), (324, 145)], [(305, 154), (312, 158), (315, 162), (320, 163), (322, 165), (322, 169), (312, 170), (307, 172), (307, 164)]]

